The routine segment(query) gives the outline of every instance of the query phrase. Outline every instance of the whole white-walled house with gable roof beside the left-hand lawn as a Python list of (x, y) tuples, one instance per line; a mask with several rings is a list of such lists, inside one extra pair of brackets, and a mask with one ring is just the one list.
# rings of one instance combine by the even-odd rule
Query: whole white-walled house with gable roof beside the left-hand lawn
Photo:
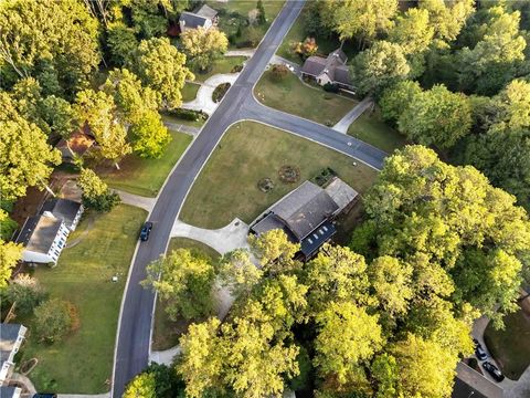
[(50, 212), (29, 217), (17, 243), (24, 247), (22, 260), (34, 264), (56, 264), (68, 237), (70, 229), (63, 220)]

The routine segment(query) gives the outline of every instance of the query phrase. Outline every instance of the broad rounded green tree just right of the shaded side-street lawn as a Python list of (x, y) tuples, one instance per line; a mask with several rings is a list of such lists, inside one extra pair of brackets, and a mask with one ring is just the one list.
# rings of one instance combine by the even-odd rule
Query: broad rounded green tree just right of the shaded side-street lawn
[(435, 85), (413, 97), (398, 126), (411, 140), (451, 148), (469, 133), (470, 105), (465, 95), (452, 93), (444, 85)]

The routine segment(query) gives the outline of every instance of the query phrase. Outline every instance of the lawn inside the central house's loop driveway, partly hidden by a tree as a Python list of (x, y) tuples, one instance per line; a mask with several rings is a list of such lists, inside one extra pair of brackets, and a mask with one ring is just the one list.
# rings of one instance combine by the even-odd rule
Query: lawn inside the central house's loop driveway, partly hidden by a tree
[[(218, 260), (221, 255), (209, 245), (188, 238), (172, 238), (169, 242), (168, 253), (176, 249), (198, 250), (209, 255), (212, 261)], [(163, 311), (165, 307), (166, 303), (163, 301), (157, 302), (151, 344), (151, 348), (155, 350), (163, 350), (174, 347), (179, 344), (180, 335), (186, 333), (190, 324), (190, 322), (186, 322), (184, 320), (178, 322), (170, 321)]]

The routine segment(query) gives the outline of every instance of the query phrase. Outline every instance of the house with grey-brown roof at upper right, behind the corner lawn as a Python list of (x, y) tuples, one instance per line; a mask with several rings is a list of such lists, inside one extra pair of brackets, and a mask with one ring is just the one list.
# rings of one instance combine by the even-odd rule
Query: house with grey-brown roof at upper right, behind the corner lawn
[(327, 57), (309, 56), (301, 67), (301, 76), (314, 80), (322, 86), (329, 83), (352, 90), (347, 61), (348, 56), (341, 49), (335, 50)]

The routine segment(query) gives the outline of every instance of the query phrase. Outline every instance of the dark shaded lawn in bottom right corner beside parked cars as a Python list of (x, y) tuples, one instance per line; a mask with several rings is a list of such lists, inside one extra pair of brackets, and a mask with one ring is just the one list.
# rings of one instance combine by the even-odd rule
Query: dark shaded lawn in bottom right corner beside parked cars
[(490, 323), (484, 339), (500, 370), (517, 380), (530, 365), (530, 314), (519, 310), (507, 315), (505, 324), (504, 331), (496, 331)]

